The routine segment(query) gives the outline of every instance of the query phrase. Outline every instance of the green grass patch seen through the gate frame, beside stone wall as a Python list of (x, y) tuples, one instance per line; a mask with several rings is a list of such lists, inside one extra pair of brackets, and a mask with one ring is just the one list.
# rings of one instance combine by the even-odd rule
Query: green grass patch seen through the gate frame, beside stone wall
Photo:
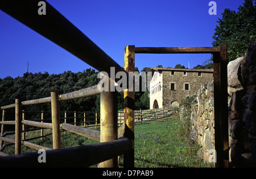
[(135, 126), (135, 167), (209, 167), (197, 156), (198, 144), (183, 135), (179, 118)]

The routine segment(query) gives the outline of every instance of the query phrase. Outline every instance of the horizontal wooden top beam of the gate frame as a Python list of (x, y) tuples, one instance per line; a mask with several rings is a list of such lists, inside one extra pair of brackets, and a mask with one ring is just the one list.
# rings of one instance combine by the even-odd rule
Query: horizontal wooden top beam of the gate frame
[(135, 47), (135, 53), (220, 53), (220, 47)]

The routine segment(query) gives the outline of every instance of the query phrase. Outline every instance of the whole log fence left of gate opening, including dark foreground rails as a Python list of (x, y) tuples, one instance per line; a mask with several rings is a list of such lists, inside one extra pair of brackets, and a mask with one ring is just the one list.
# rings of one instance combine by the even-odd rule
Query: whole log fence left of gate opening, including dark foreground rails
[[(85, 63), (89, 64), (98, 71), (104, 71), (110, 74), (112, 67), (115, 68), (115, 74), (118, 72), (125, 72), (129, 77), (128, 72), (134, 72), (134, 57), (125, 52), (125, 68), (117, 64), (111, 59), (104, 51), (102, 51), (96, 44), (93, 43), (87, 36), (85, 36), (77, 27), (75, 27), (69, 20), (61, 15), (56, 9), (54, 9), (48, 2), (46, 2), (47, 15), (40, 16), (34, 14), (37, 12), (39, 1), (22, 1), (17, 3), (10, 3), (10, 1), (1, 1), (0, 10), (13, 16), (19, 22), (22, 22), (27, 27), (43, 35), (45, 38), (53, 41), (53, 43), (66, 49)], [(22, 10), (20, 10), (22, 9)], [(109, 75), (110, 76), (110, 75)], [(127, 78), (128, 81), (129, 78)], [(110, 81), (110, 78), (108, 78)], [(116, 79), (118, 80), (118, 79)], [(117, 82), (117, 81), (116, 81)], [(134, 85), (130, 84), (130, 85)], [(129, 83), (127, 88), (129, 88)], [(44, 166), (67, 166), (75, 164), (73, 166), (88, 166), (92, 164), (101, 163), (101, 167), (117, 167), (117, 157), (122, 155), (124, 157), (124, 167), (134, 166), (134, 92), (125, 90), (125, 119), (126, 130), (128, 133), (124, 134), (124, 138), (118, 139), (117, 136), (117, 99), (116, 91), (98, 91), (97, 86), (91, 88), (74, 91), (73, 93), (61, 94), (57, 91), (51, 92), (51, 97), (34, 99), (31, 101), (22, 101), (15, 99), (15, 103), (3, 106), (3, 120), (2, 127), (7, 124), (14, 124), (13, 121), (5, 121), (5, 110), (15, 107), (15, 139), (9, 140), (11, 143), (15, 143), (15, 154), (12, 156), (6, 156), (0, 158), (0, 166), (14, 166), (14, 163), (18, 166), (37, 166), (38, 155), (36, 153), (30, 153), (28, 155), (19, 155), (20, 147), (22, 145), (21, 131), (22, 125), (31, 125), (46, 127), (52, 129), (53, 149), (47, 150), (46, 155), (47, 163), (41, 163)], [(92, 95), (101, 96), (101, 131), (100, 131), (100, 144), (89, 145), (73, 148), (61, 148), (60, 138), (60, 101), (70, 100), (76, 98), (84, 98)], [(127, 98), (129, 97), (129, 99)], [(26, 105), (34, 105), (39, 103), (51, 102), (51, 123), (46, 122), (31, 122), (28, 120), (22, 120), (22, 107)], [(129, 113), (127, 115), (127, 112)], [(72, 127), (77, 127), (73, 125)], [(64, 128), (64, 126), (62, 126)], [(86, 129), (86, 128), (85, 128)], [(88, 129), (86, 129), (88, 130)], [(4, 131), (4, 130), (2, 130)], [(86, 133), (86, 132), (85, 132)], [(2, 141), (8, 139), (1, 136)], [(26, 142), (23, 142), (23, 145)], [(36, 146), (39, 147), (39, 146)], [(40, 148), (40, 147), (39, 147)], [(98, 152), (100, 150), (100, 152)], [(81, 151), (81, 152), (74, 152)], [(93, 152), (98, 152), (97, 155), (92, 155)], [(85, 154), (86, 153), (86, 156)], [(98, 155), (101, 153), (100, 155)], [(87, 156), (88, 155), (88, 156)], [(133, 157), (131, 157), (133, 156)], [(18, 159), (18, 161), (16, 161)], [(65, 162), (61, 160), (65, 159)], [(79, 162), (77, 162), (79, 161)], [(59, 164), (59, 165), (58, 165)]]

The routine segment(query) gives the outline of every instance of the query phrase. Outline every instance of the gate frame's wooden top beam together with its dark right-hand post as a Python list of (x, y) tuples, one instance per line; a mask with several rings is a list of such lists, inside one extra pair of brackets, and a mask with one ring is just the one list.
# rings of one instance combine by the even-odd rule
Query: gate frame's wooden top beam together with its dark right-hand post
[[(228, 72), (226, 61), (226, 44), (220, 47), (135, 47), (128, 45), (130, 59), (135, 53), (212, 53), (214, 80), (214, 135), (216, 150), (216, 167), (229, 167), (228, 135)], [(130, 69), (131, 71), (133, 69)]]

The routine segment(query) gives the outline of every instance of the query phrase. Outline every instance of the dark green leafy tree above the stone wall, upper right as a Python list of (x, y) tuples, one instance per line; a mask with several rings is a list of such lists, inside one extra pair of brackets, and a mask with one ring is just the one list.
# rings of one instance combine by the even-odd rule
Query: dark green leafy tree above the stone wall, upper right
[(238, 11), (225, 9), (218, 18), (213, 47), (227, 44), (228, 61), (245, 55), (250, 43), (256, 38), (256, 0), (245, 0)]

